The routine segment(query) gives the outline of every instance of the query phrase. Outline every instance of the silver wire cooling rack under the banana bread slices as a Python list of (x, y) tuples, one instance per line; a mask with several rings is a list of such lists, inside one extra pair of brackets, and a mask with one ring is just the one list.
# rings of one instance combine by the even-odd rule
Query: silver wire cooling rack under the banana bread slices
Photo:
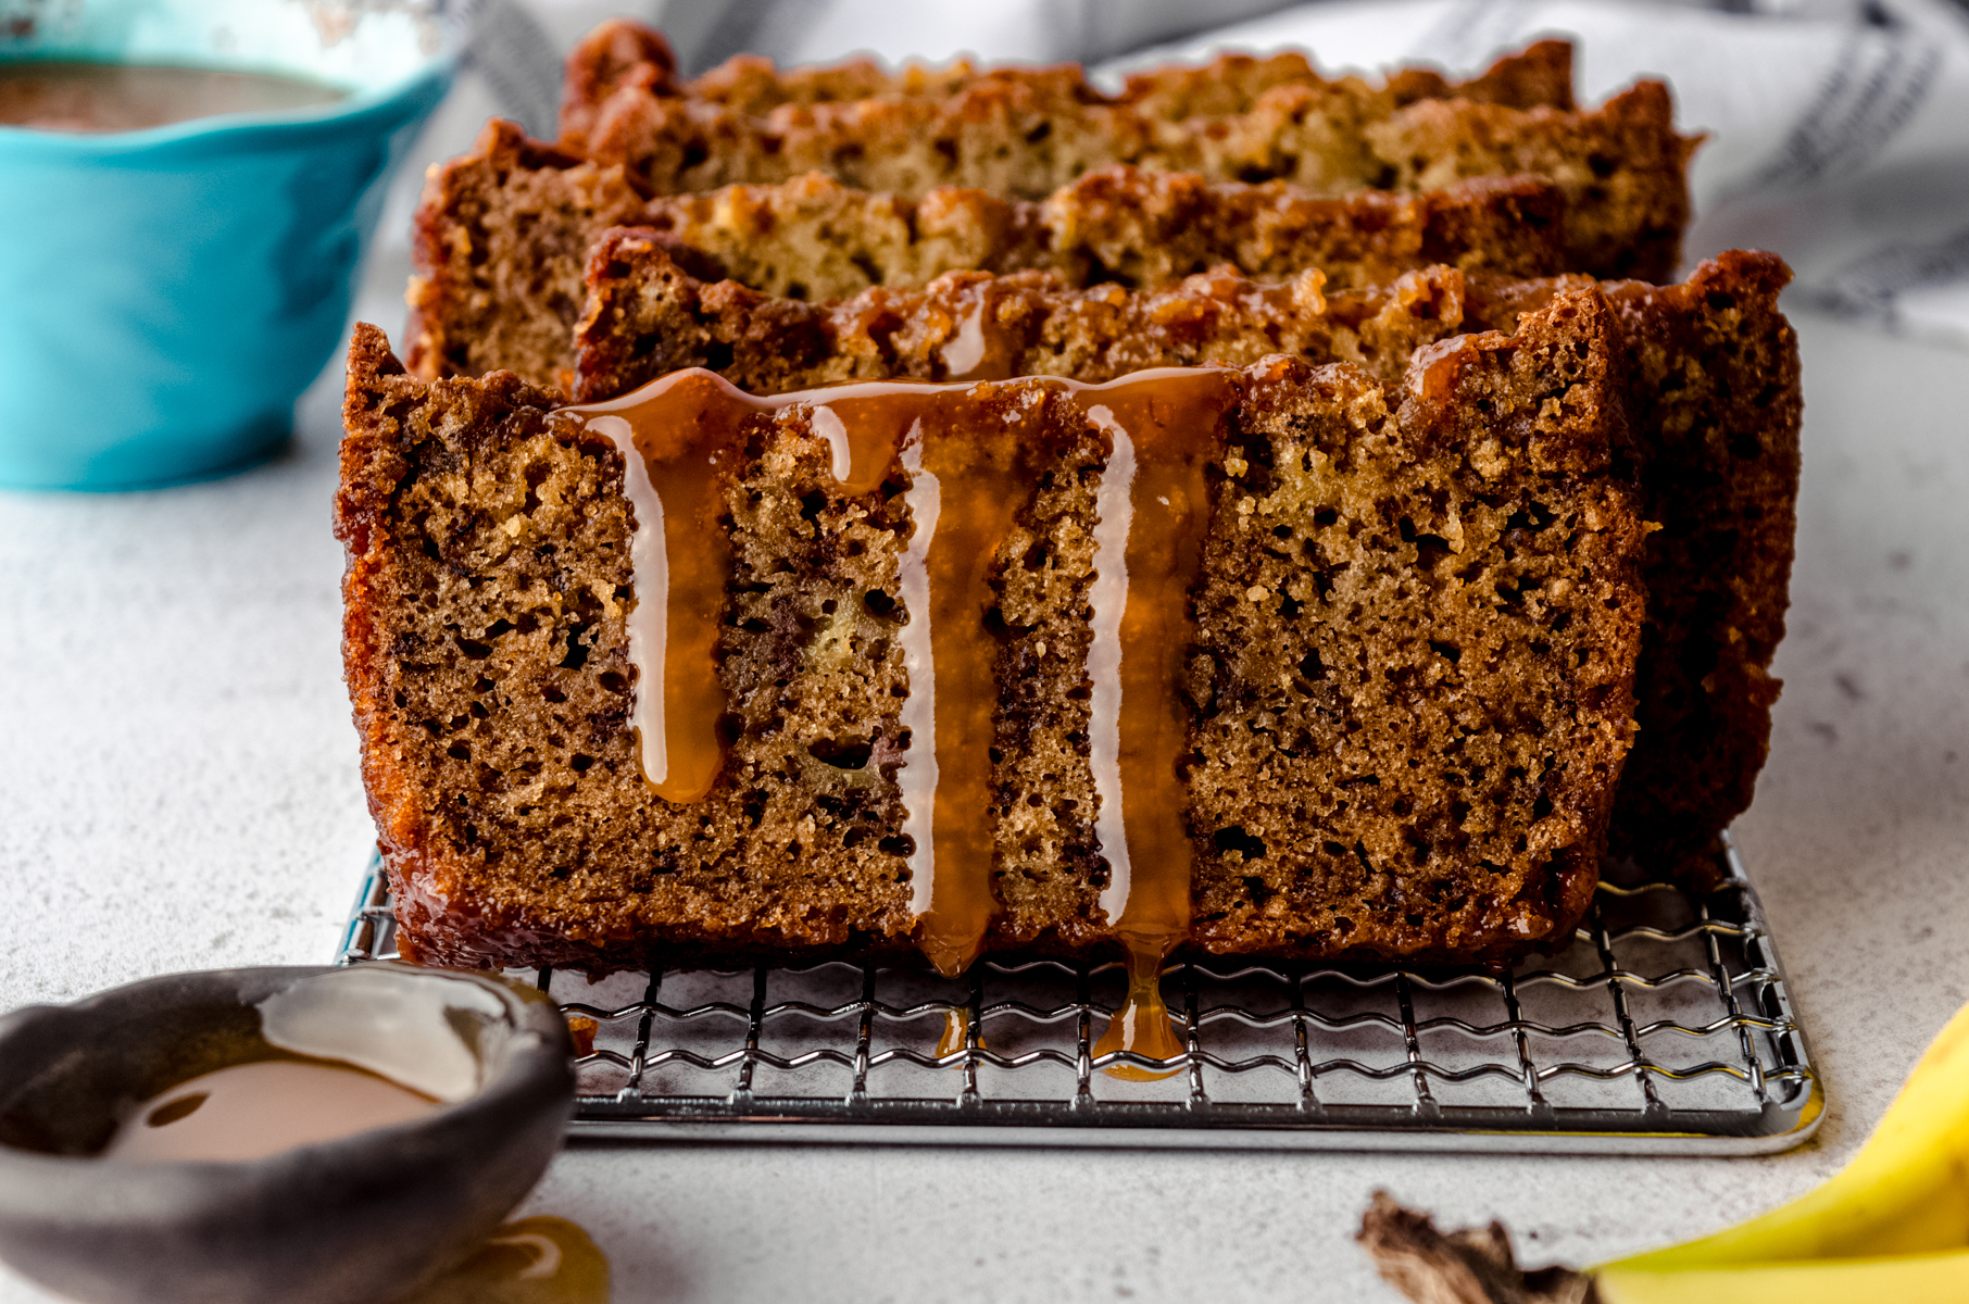
[[(1573, 944), (1504, 975), (1172, 963), (1187, 1052), (1168, 1062), (1095, 1054), (1120, 963), (510, 977), (585, 1048), (577, 1137), (1762, 1154), (1806, 1141), (1825, 1097), (1721, 855), (1699, 900), (1609, 867)], [(394, 957), (394, 932), (372, 861), (341, 961)]]

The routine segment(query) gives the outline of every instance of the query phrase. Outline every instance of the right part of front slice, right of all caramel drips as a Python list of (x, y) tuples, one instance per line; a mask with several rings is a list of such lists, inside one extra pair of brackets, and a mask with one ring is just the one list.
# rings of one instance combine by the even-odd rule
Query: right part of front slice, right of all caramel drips
[(1467, 963), (1569, 940), (1640, 648), (1613, 335), (1587, 290), (1424, 351), (1392, 412), (1345, 366), (1252, 388), (1197, 597), (1205, 949)]

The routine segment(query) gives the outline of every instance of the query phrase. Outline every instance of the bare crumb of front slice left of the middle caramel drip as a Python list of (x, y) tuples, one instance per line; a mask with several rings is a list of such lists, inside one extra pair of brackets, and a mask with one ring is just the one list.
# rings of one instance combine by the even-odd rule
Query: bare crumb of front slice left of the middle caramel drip
[(343, 652), (406, 953), (610, 969), (908, 945), (884, 758), (815, 756), (843, 713), (894, 747), (902, 654), (862, 601), (894, 591), (894, 498), (805, 514), (827, 447), (760, 424), (727, 487), (730, 758), (707, 802), (671, 806), (628, 727), (622, 459), (555, 406), (508, 374), (425, 386), (372, 327), (350, 349)]

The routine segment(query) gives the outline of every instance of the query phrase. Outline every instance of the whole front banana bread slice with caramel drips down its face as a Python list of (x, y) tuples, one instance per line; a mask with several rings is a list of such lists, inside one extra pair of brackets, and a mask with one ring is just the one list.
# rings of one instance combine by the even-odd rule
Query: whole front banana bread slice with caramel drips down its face
[(685, 370), (559, 408), (360, 327), (345, 658), (408, 953), (1563, 942), (1640, 646), (1617, 329), (1557, 288), (1396, 386)]

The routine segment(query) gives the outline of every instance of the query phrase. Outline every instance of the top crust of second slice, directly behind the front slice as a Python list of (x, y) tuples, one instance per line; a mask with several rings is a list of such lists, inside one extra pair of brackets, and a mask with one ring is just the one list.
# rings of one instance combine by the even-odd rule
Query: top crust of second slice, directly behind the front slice
[[(1416, 349), (1473, 329), (1465, 323), (1471, 278), (1455, 268), (1343, 293), (1327, 293), (1319, 270), (1270, 284), (1215, 268), (1138, 292), (1114, 284), (1071, 290), (1044, 272), (947, 272), (921, 290), (801, 303), (736, 282), (705, 284), (675, 266), (658, 232), (618, 228), (595, 246), (587, 280), (589, 301), (575, 331), (581, 402), (626, 394), (683, 366), (709, 366), (742, 390), (778, 394), (888, 378), (1111, 380), (1148, 366), (1242, 366), (1272, 353), (1359, 362), (1392, 384)], [(1556, 288), (1585, 284), (1591, 280), (1502, 286), (1550, 297)], [(981, 353), (965, 347), (967, 337), (977, 337)], [(953, 359), (965, 366), (953, 368)]]

